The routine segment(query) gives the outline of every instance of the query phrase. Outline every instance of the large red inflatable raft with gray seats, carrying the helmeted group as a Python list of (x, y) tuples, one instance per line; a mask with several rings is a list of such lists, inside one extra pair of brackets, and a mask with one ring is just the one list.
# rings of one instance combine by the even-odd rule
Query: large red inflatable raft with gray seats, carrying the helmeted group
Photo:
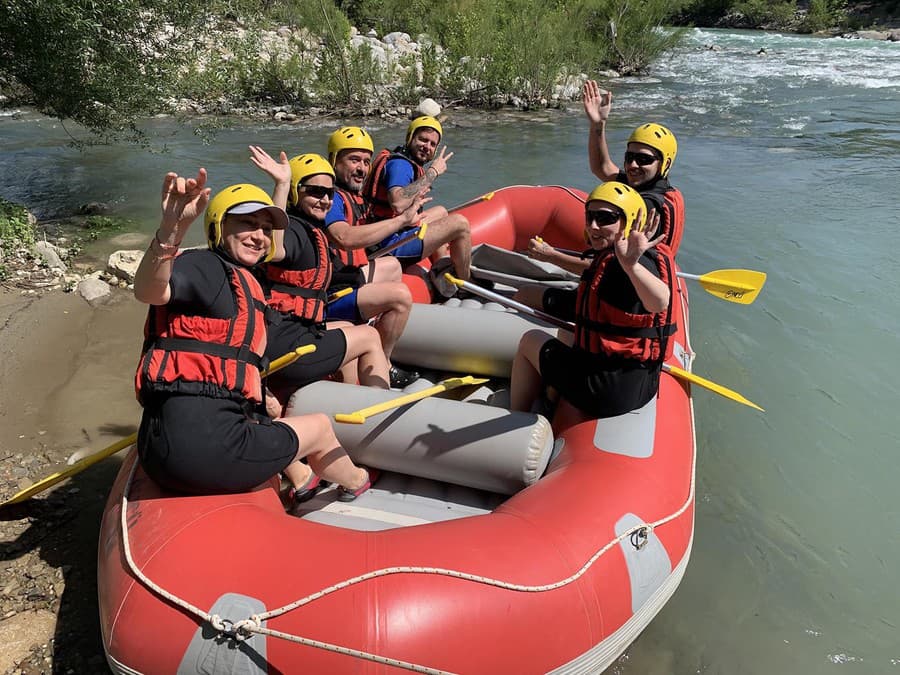
[[(540, 235), (581, 248), (583, 199), (569, 188), (511, 187), (461, 211), (478, 243), (514, 251)], [(671, 363), (689, 369), (679, 284)], [(398, 350), (497, 377), (533, 322), (454, 300), (417, 305)], [(456, 336), (442, 347), (436, 336), (447, 332)], [(500, 385), (336, 424), (351, 455), (380, 466), (382, 478), (351, 503), (320, 493), (302, 517), (285, 514), (275, 480), (240, 495), (167, 494), (132, 452), (99, 544), (112, 670), (602, 671), (685, 572), (690, 392), (663, 374), (658, 397), (638, 411), (576, 426), (557, 419), (551, 429), (540, 415), (505, 410)], [(396, 395), (321, 382), (291, 405), (333, 413)]]

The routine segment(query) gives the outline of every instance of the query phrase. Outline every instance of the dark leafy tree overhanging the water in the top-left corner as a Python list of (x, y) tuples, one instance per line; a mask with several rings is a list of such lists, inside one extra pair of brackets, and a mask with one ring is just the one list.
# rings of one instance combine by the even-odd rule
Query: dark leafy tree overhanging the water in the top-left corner
[(0, 76), (34, 105), (100, 136), (139, 137), (191, 48), (209, 29), (210, 3), (173, 0), (4, 0)]

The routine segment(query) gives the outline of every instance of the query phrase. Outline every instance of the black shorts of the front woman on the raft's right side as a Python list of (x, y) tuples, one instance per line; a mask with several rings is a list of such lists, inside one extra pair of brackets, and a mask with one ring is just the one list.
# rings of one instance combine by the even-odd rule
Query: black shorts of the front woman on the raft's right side
[(659, 390), (660, 366), (601, 363), (595, 356), (549, 340), (541, 348), (541, 378), (591, 417), (623, 415), (645, 405)]

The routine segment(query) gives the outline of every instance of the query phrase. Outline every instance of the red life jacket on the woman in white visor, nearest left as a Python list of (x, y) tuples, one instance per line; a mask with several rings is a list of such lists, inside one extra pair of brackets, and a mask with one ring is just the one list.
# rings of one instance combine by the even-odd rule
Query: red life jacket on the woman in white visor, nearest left
[(262, 402), (259, 371), (266, 349), (265, 296), (248, 270), (216, 258), (231, 286), (234, 316), (215, 319), (175, 311), (168, 305), (151, 306), (134, 378), (141, 405), (154, 393)]

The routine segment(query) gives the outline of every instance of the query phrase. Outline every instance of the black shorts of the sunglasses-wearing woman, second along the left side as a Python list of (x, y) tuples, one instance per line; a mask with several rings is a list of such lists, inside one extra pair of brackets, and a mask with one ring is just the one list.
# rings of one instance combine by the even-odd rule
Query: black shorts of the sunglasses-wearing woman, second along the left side
[(316, 351), (266, 378), (266, 384), (279, 400), (285, 401), (300, 387), (337, 372), (347, 355), (347, 338), (342, 330), (323, 330), (294, 319), (268, 326), (266, 356), (269, 360), (309, 344), (314, 344)]

